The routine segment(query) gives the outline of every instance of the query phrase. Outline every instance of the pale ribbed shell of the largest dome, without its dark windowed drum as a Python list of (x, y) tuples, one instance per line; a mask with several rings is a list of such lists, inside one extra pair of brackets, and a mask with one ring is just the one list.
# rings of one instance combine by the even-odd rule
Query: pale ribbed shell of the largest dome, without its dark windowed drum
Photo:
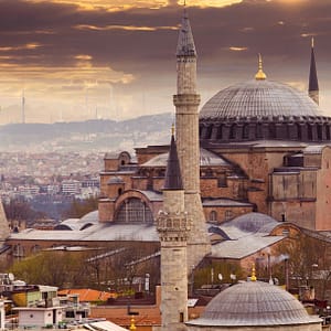
[(201, 109), (200, 118), (316, 117), (317, 104), (291, 86), (252, 79), (218, 92)]

